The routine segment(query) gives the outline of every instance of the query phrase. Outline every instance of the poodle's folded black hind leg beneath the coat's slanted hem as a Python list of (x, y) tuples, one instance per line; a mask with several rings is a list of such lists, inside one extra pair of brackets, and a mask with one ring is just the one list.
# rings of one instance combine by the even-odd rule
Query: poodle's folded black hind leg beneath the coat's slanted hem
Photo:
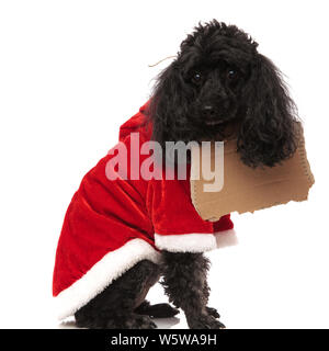
[(149, 316), (138, 315), (135, 309), (144, 302), (159, 276), (160, 270), (156, 263), (148, 260), (136, 263), (75, 314), (77, 326), (109, 329), (156, 328)]

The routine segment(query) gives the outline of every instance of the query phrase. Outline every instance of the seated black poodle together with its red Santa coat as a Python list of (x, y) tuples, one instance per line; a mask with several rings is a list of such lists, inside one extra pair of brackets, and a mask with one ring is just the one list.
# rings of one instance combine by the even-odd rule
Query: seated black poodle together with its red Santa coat
[[(164, 148), (167, 141), (223, 140), (234, 129), (245, 165), (273, 167), (295, 152), (296, 121), (282, 73), (258, 52), (257, 42), (237, 26), (213, 20), (200, 23), (182, 42), (157, 77), (149, 102), (122, 126), (121, 140), (143, 129), (141, 141)], [(151, 317), (172, 317), (181, 308), (192, 329), (224, 328), (218, 312), (207, 306), (204, 251), (213, 249), (215, 229), (232, 228), (229, 214), (218, 224), (203, 223), (180, 182), (158, 181), (159, 191), (145, 185), (151, 181), (109, 185), (103, 173), (111, 155), (86, 176), (66, 214), (54, 270), (54, 295), (66, 305), (61, 317), (73, 314), (84, 328), (144, 329), (156, 328)], [(163, 189), (173, 196), (164, 205)], [(194, 234), (170, 235), (177, 227), (185, 234), (191, 223)], [(160, 278), (174, 307), (145, 299)]]

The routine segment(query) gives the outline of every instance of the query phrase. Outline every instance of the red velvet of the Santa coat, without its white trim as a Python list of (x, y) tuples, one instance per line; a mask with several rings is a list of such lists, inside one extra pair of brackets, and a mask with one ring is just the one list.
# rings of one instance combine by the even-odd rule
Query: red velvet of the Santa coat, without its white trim
[[(140, 107), (121, 127), (120, 140), (128, 150), (128, 171), (131, 133), (139, 132), (140, 144), (151, 136), (145, 109), (146, 105)], [(229, 215), (216, 223), (198, 216), (191, 202), (189, 179), (109, 180), (105, 170), (113, 157), (106, 155), (84, 176), (67, 210), (56, 252), (54, 296), (132, 239), (143, 239), (158, 250), (155, 233), (208, 235), (234, 226)], [(140, 162), (145, 158), (140, 156)]]

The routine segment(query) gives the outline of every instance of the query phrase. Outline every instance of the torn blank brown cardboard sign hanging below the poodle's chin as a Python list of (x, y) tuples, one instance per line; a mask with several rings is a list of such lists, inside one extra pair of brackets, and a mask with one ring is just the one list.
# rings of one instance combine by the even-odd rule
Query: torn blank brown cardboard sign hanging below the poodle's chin
[[(252, 213), (290, 201), (307, 200), (314, 177), (306, 157), (303, 133), (300, 135), (299, 146), (292, 158), (273, 168), (262, 169), (252, 169), (241, 162), (236, 151), (236, 139), (225, 141), (224, 185), (217, 192), (204, 191), (204, 185), (213, 181), (206, 181), (202, 177), (201, 149), (192, 150), (191, 174), (195, 176), (196, 172), (200, 179), (190, 181), (191, 197), (200, 216), (205, 220), (217, 220), (232, 212)], [(208, 159), (214, 165), (214, 148), (208, 152)]]

